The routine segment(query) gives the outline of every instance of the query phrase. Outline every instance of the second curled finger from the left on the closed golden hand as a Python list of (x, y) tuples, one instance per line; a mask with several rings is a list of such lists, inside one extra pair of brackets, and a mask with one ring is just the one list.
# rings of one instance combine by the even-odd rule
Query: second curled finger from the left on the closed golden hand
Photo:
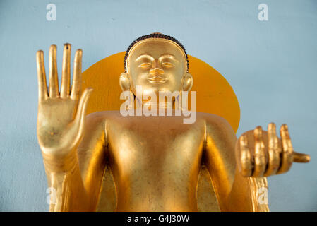
[(254, 172), (253, 177), (263, 177), (267, 157), (265, 154), (265, 145), (263, 141), (262, 127), (258, 126), (254, 129)]

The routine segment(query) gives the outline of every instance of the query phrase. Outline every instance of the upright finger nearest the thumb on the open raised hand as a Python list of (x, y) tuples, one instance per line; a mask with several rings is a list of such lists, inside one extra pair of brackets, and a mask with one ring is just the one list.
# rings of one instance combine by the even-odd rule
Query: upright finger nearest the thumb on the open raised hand
[(83, 51), (77, 49), (74, 59), (73, 84), (71, 87), (71, 99), (78, 100), (81, 90), (81, 59)]

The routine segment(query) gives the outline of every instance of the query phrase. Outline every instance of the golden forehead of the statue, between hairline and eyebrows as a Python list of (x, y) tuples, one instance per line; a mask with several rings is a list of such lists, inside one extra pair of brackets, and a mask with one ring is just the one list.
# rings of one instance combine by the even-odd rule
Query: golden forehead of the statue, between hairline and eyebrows
[(178, 44), (162, 38), (150, 38), (136, 43), (128, 53), (128, 60), (142, 54), (148, 54), (154, 58), (162, 54), (172, 54), (174, 57), (186, 59), (183, 49)]

